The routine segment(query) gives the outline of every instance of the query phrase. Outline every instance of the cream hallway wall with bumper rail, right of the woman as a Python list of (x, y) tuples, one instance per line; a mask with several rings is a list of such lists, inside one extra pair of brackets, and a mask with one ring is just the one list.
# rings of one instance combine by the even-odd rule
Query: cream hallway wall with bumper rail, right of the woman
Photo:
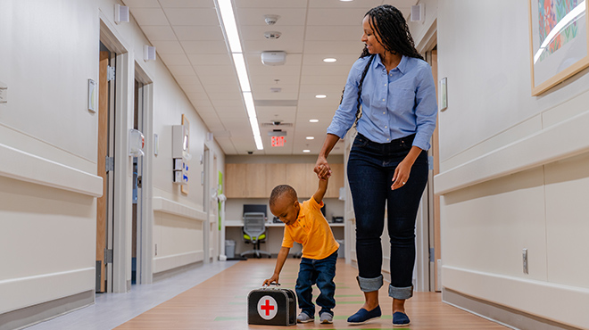
[(531, 96), (527, 1), (440, 0), (437, 36), (445, 293), (589, 327), (589, 70)]

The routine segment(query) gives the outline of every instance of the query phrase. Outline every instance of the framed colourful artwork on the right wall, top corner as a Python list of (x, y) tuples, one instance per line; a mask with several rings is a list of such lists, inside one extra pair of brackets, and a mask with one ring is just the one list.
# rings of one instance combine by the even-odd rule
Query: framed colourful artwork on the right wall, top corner
[(589, 65), (586, 0), (528, 0), (532, 95)]

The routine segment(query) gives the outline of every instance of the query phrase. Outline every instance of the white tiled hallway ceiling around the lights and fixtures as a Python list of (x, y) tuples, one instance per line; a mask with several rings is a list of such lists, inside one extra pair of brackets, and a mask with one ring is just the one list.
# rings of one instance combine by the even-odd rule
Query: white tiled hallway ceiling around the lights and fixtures
[[(380, 4), (393, 4), (405, 18), (417, 0), (233, 0), (237, 29), (245, 54), (253, 99), (264, 144), (253, 141), (236, 70), (213, 0), (122, 0), (145, 36), (156, 47), (158, 61), (169, 69), (194, 104), (224, 153), (317, 154), (339, 104), (348, 71), (361, 54), (361, 20)], [(279, 15), (269, 26), (264, 15)], [(278, 39), (266, 31), (282, 33)], [(266, 66), (261, 52), (285, 51), (286, 64)], [(337, 62), (323, 59), (334, 57)], [(282, 88), (272, 93), (271, 87)], [(315, 95), (327, 95), (318, 99)], [(311, 123), (309, 120), (319, 120)], [(292, 126), (274, 127), (282, 120)], [(286, 131), (282, 147), (270, 146), (268, 132)], [(307, 140), (306, 136), (315, 136)], [(341, 144), (333, 154), (343, 153)]]

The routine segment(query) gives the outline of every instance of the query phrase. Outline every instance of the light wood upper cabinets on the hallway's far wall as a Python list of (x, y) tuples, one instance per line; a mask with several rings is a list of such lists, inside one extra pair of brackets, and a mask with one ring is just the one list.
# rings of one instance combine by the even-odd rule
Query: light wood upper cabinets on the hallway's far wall
[[(337, 198), (339, 188), (344, 186), (344, 164), (330, 166), (332, 176), (325, 197)], [(314, 163), (226, 164), (225, 192), (228, 198), (268, 198), (275, 186), (290, 185), (300, 198), (309, 198), (319, 186), (314, 167)]]

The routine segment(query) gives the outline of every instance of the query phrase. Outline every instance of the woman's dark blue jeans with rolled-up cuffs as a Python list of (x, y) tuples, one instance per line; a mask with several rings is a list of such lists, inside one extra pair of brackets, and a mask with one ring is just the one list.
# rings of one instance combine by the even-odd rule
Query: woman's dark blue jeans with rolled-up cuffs
[(414, 136), (377, 144), (358, 134), (348, 159), (348, 180), (356, 217), (358, 282), (363, 292), (382, 286), (380, 236), (386, 222), (391, 244), (391, 285), (395, 299), (411, 298), (415, 264), (415, 219), (427, 184), (427, 153), (423, 151), (411, 167), (407, 183), (391, 190), (394, 169), (411, 150)]

